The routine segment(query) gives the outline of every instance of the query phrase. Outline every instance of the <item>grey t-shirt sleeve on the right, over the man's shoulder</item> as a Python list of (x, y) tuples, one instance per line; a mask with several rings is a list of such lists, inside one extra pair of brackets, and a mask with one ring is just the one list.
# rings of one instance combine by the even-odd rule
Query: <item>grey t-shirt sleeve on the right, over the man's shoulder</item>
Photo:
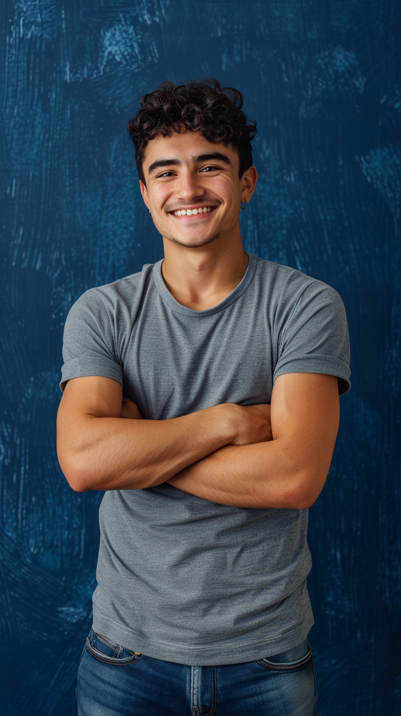
[(312, 282), (291, 306), (279, 339), (274, 380), (284, 373), (336, 375), (339, 395), (351, 387), (344, 304), (327, 284)]

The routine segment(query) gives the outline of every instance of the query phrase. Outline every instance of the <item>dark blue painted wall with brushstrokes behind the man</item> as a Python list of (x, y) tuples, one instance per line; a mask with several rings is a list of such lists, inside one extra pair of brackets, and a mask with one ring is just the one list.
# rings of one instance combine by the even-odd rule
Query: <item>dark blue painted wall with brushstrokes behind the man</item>
[(1, 714), (74, 713), (102, 495), (57, 465), (64, 319), (162, 255), (125, 122), (163, 79), (216, 76), (259, 123), (246, 248), (327, 281), (349, 320), (310, 512), (319, 715), (399, 715), (400, 3), (3, 0), (0, 18)]

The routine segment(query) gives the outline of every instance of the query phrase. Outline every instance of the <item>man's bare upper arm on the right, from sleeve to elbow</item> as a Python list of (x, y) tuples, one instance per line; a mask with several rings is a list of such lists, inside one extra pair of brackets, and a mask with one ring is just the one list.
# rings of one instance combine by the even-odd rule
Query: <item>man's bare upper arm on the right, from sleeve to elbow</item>
[(329, 471), (338, 427), (337, 377), (287, 373), (276, 378), (271, 396), (273, 438), (281, 442), (312, 491), (320, 485), (317, 494)]

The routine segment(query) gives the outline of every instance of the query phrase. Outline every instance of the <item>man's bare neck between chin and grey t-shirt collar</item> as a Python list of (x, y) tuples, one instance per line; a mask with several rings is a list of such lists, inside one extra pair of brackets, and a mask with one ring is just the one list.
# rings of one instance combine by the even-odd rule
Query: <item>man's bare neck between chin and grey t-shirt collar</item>
[(194, 311), (220, 304), (238, 286), (248, 266), (239, 226), (234, 235), (206, 246), (188, 248), (166, 238), (163, 243), (165, 285), (178, 303)]

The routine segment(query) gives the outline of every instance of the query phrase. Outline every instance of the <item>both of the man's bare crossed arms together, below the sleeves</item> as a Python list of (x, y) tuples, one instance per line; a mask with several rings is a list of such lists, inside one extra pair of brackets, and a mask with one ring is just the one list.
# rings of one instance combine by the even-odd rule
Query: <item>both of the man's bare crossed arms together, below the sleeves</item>
[(338, 382), (322, 374), (282, 375), (274, 383), (271, 412), (269, 405), (224, 404), (172, 420), (141, 417), (112, 379), (67, 383), (57, 452), (74, 490), (168, 481), (226, 505), (306, 508), (321, 492), (332, 459)]

